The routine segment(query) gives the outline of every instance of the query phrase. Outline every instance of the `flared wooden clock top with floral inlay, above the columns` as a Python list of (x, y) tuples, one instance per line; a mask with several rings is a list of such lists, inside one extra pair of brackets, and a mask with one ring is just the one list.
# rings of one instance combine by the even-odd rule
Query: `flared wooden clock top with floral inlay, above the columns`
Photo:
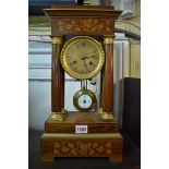
[(122, 11), (110, 5), (52, 5), (44, 10), (51, 20), (51, 35), (113, 35)]

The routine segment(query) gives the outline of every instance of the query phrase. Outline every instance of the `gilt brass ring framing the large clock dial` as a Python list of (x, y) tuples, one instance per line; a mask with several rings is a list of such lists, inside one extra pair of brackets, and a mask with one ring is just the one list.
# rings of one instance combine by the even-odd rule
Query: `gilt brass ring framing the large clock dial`
[[(87, 43), (90, 43), (93, 45), (96, 46), (98, 52), (99, 52), (99, 62), (96, 67), (96, 69), (89, 73), (86, 73), (86, 74), (80, 74), (75, 71), (73, 71), (69, 64), (67, 63), (67, 53), (68, 53), (68, 50), (71, 48), (72, 45), (74, 45), (75, 43), (77, 43), (79, 40), (84, 40), (84, 41), (87, 41)], [(70, 40), (68, 40), (62, 50), (61, 50), (61, 57), (60, 57), (60, 61), (61, 61), (61, 64), (62, 64), (62, 68), (64, 69), (64, 71), (71, 75), (72, 77), (74, 79), (77, 79), (77, 80), (88, 80), (88, 79), (92, 79), (94, 77), (95, 75), (97, 75), (99, 73), (99, 71), (101, 70), (104, 63), (105, 63), (105, 52), (104, 52), (104, 49), (101, 47), (101, 44), (98, 43), (96, 39), (89, 37), (89, 36), (76, 36), (76, 37), (73, 37), (71, 38)]]

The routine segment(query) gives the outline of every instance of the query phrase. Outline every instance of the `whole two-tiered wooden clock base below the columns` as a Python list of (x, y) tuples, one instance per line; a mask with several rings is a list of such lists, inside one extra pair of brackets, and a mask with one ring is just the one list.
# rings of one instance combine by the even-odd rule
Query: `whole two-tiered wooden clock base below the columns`
[[(75, 125), (87, 125), (87, 134), (75, 134)], [(109, 157), (122, 161), (123, 140), (116, 120), (102, 122), (97, 112), (68, 112), (64, 121), (51, 116), (45, 123), (41, 136), (41, 159), (56, 157)]]

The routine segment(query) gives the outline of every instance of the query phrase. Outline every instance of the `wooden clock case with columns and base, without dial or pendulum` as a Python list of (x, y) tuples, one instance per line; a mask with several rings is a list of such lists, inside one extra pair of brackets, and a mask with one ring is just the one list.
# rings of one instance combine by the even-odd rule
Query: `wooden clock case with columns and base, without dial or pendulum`
[[(113, 114), (113, 38), (114, 21), (121, 14), (109, 5), (52, 5), (45, 13), (51, 20), (52, 75), (51, 114), (40, 138), (43, 160), (56, 157), (109, 157), (122, 161), (123, 138), (119, 123), (100, 119)], [(100, 110), (94, 113), (64, 110), (64, 70), (60, 52), (68, 35), (101, 36), (106, 61), (101, 70)], [(57, 120), (55, 118), (58, 118)], [(87, 134), (75, 134), (75, 125), (88, 126)]]

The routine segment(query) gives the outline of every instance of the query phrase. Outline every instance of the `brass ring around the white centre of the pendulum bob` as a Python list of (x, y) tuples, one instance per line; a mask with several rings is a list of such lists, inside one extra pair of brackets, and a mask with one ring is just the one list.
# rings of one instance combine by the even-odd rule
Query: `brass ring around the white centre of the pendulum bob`
[[(89, 107), (87, 108), (83, 108), (79, 105), (79, 98), (82, 96), (82, 95), (87, 95), (90, 97), (92, 99), (92, 104)], [(80, 110), (80, 111), (83, 111), (83, 112), (86, 112), (86, 111), (89, 111), (92, 110), (93, 108), (95, 108), (96, 106), (96, 95), (94, 94), (94, 92), (92, 92), (90, 89), (80, 89), (75, 93), (75, 95), (73, 96), (73, 105), (74, 107)]]

